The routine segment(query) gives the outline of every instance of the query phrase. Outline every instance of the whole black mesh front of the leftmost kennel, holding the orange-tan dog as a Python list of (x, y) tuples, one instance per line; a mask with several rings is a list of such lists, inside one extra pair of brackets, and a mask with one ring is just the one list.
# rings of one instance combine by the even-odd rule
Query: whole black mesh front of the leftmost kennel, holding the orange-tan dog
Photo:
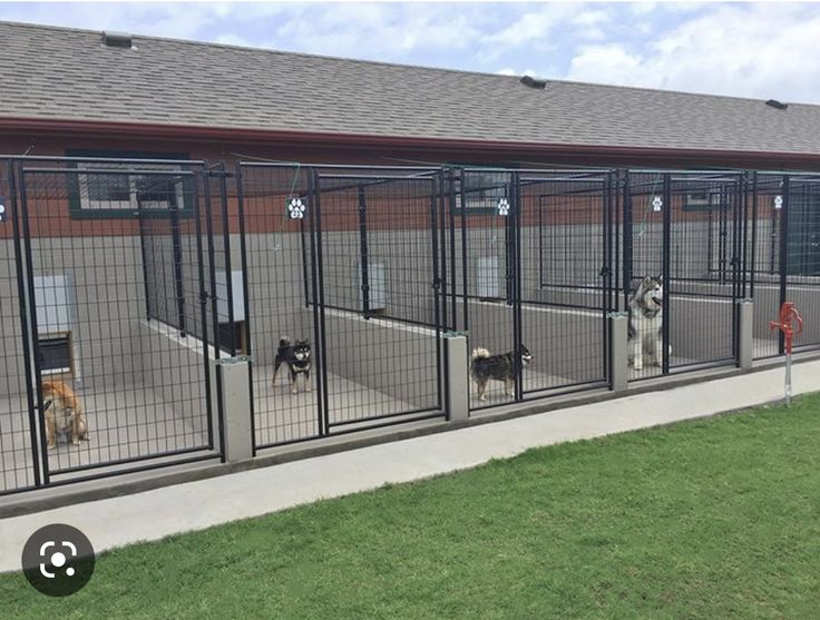
[[(203, 164), (31, 157), (0, 173), (3, 298), (17, 306), (3, 325), (0, 493), (218, 459)], [(47, 446), (47, 382), (76, 393), (89, 441)]]

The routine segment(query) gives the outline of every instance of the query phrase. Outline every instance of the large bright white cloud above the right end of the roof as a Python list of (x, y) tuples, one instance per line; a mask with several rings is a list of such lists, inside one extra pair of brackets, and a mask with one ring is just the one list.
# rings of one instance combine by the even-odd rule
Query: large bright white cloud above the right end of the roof
[(820, 11), (806, 6), (719, 6), (640, 49), (580, 49), (566, 77), (694, 92), (820, 102)]

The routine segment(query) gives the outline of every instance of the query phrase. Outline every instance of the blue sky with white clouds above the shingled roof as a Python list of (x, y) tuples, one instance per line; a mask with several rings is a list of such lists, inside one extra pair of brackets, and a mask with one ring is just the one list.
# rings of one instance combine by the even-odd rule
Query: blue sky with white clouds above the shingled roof
[(10, 2), (0, 20), (820, 104), (820, 3)]

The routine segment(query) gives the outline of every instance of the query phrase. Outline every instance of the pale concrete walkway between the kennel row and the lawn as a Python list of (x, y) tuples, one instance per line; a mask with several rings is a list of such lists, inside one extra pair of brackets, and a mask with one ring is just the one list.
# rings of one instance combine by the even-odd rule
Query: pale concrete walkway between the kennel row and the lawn
[[(797, 364), (793, 376), (795, 394), (820, 390), (820, 361)], [(769, 403), (782, 393), (782, 368), (755, 372), (3, 519), (0, 571), (19, 570), (26, 540), (48, 523), (79, 528), (101, 551), (471, 468), (534, 446)]]

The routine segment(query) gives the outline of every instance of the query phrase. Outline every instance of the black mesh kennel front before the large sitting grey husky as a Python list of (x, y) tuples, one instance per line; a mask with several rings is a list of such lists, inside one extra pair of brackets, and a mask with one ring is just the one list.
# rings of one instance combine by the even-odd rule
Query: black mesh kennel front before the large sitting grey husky
[(748, 189), (742, 173), (625, 174), (622, 307), (643, 277), (664, 283), (663, 358), (631, 380), (736, 363)]

